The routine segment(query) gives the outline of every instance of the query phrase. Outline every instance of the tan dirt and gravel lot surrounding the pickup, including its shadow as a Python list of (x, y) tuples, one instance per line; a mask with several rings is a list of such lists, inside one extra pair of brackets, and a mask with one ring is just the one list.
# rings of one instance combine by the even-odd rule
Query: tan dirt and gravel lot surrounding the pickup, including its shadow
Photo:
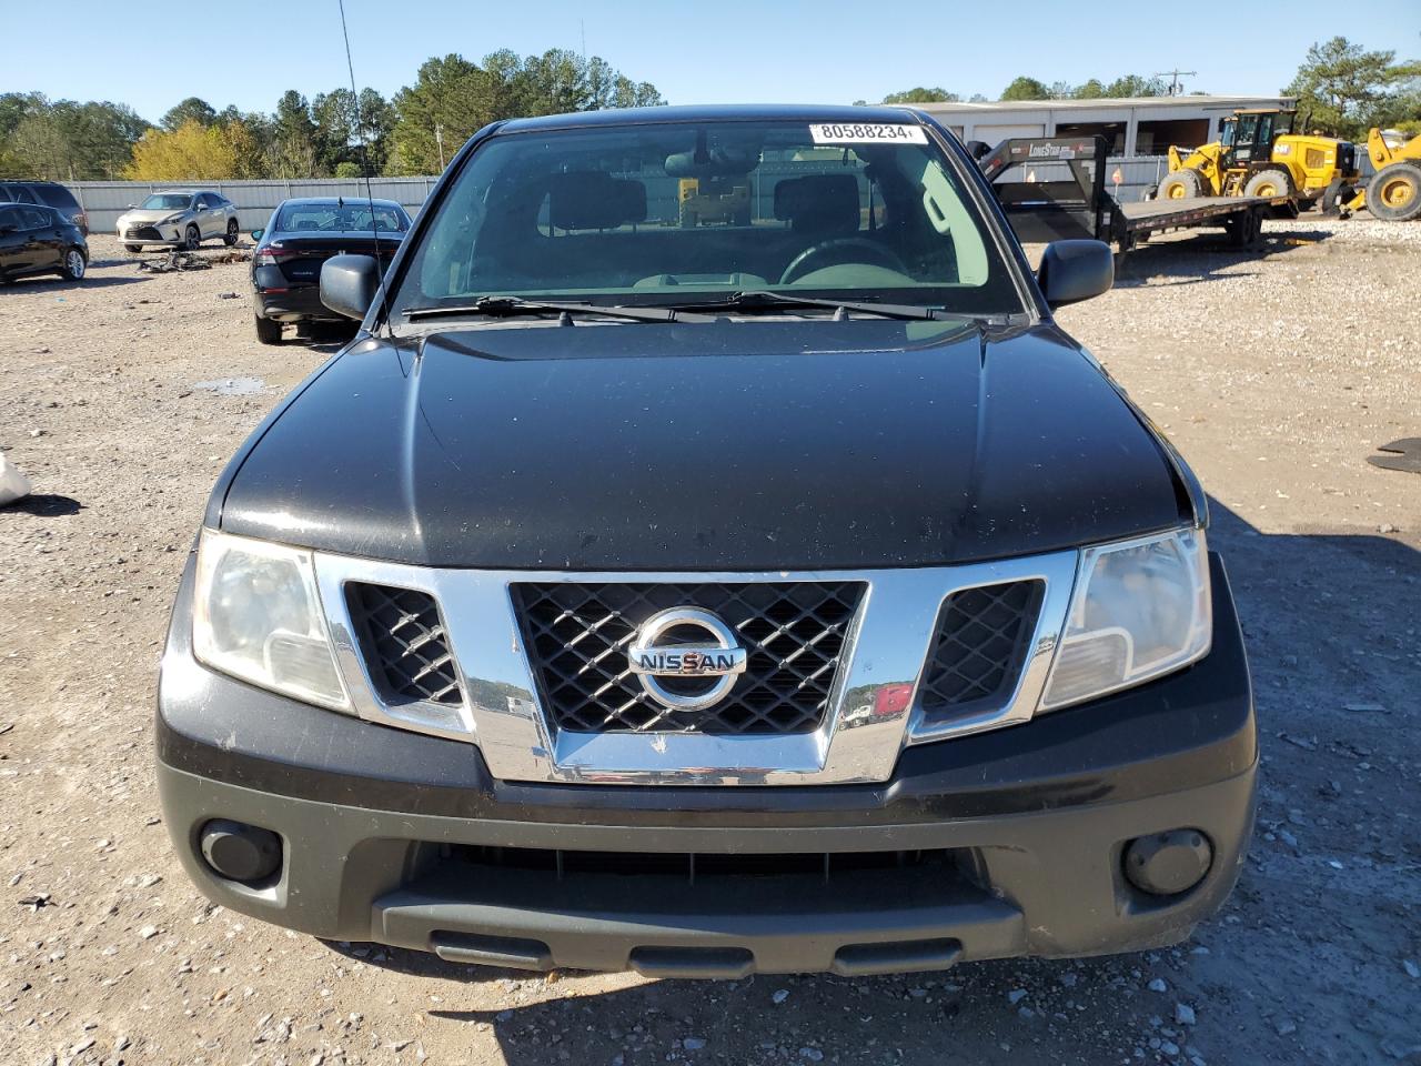
[[(14, 1063), (1421, 1063), (1421, 226), (1134, 253), (1061, 317), (1214, 495), (1258, 689), (1258, 836), (1172, 951), (941, 975), (544, 979), (323, 944), (189, 885), (158, 819), (159, 641), (203, 499), (331, 350), (246, 269), (0, 291), (0, 1059)], [(240, 298), (222, 298), (237, 293)]]

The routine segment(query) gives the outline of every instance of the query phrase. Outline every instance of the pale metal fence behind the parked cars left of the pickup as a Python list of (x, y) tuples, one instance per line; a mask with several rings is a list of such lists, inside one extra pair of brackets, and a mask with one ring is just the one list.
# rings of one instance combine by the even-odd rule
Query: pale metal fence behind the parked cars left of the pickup
[[(369, 188), (375, 199), (398, 200), (414, 215), (429, 196), (438, 178), (375, 178)], [(271, 210), (281, 200), (293, 196), (347, 196), (360, 199), (365, 195), (365, 182), (360, 178), (315, 178), (311, 181), (269, 181), (269, 182), (68, 182), (84, 213), (90, 229), (95, 233), (112, 233), (131, 205), (141, 203), (149, 193), (163, 189), (209, 189), (222, 193), (237, 205), (237, 225), (244, 230), (267, 225)]]

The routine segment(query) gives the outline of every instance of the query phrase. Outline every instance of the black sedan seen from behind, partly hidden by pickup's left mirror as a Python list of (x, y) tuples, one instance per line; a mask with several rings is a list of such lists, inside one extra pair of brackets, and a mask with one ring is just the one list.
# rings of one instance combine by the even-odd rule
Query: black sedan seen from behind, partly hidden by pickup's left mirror
[(342, 253), (388, 264), (409, 232), (394, 200), (294, 199), (281, 202), (266, 229), (253, 230), (253, 310), (257, 340), (280, 344), (281, 327), (341, 321), (321, 303), (321, 264)]

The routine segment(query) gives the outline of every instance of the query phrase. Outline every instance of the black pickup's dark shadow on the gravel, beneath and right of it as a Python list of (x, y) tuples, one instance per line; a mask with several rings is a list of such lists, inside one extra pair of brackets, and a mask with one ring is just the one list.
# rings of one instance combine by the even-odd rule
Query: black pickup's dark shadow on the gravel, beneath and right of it
[[(1374, 1060), (1405, 1036), (1407, 1018), (1377, 1003), (1394, 991), (1411, 911), (1366, 873), (1414, 868), (1421, 844), (1354, 839), (1349, 826), (1364, 816), (1356, 804), (1415, 822), (1421, 802), (1405, 775), (1376, 775), (1367, 792), (1353, 792), (1351, 775), (1358, 750), (1415, 758), (1421, 706), (1407, 632), (1421, 601), (1421, 553), (1380, 534), (1269, 534), (1215, 499), (1211, 510), (1209, 544), (1223, 554), (1238, 601), (1269, 765), (1238, 890), (1177, 948), (861, 979), (756, 975), (591, 991), (574, 971), (550, 981), (374, 944), (327, 947), (382, 969), (499, 988), (509, 1005), (499, 1011), (460, 1009), (458, 991), (445, 991), (443, 1006), (428, 1011), (428, 1032), (450, 1026), (443, 1039), (472, 1040), (462, 1026), (487, 1025), (509, 1066)], [(1346, 799), (1331, 777), (1346, 783)], [(1322, 890), (1319, 878), (1333, 876), (1322, 858), (1309, 866), (1279, 851), (1269, 826), (1280, 817), (1306, 819), (1314, 847), (1346, 860), (1346, 891)], [(1329, 822), (1343, 834), (1336, 841), (1316, 829)], [(1320, 955), (1329, 967), (1316, 965)], [(1189, 1005), (1187, 1025), (1175, 1021), (1175, 1003)], [(1293, 1035), (1280, 1038), (1280, 1022)]]

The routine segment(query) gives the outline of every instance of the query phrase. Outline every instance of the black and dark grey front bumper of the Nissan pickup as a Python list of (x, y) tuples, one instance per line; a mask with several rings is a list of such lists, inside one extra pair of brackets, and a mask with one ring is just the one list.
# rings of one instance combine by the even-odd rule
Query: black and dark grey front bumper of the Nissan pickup
[[(628, 787), (492, 779), (477, 748), (321, 711), (207, 671), (188, 586), (169, 634), (158, 779), (212, 900), (318, 937), (529, 969), (657, 976), (936, 969), (1177, 942), (1232, 888), (1256, 739), (1228, 580), (1178, 674), (1030, 723), (904, 752), (884, 785)], [(213, 820), (273, 831), (276, 871), (202, 856)], [(1131, 883), (1131, 841), (1212, 858)]]

